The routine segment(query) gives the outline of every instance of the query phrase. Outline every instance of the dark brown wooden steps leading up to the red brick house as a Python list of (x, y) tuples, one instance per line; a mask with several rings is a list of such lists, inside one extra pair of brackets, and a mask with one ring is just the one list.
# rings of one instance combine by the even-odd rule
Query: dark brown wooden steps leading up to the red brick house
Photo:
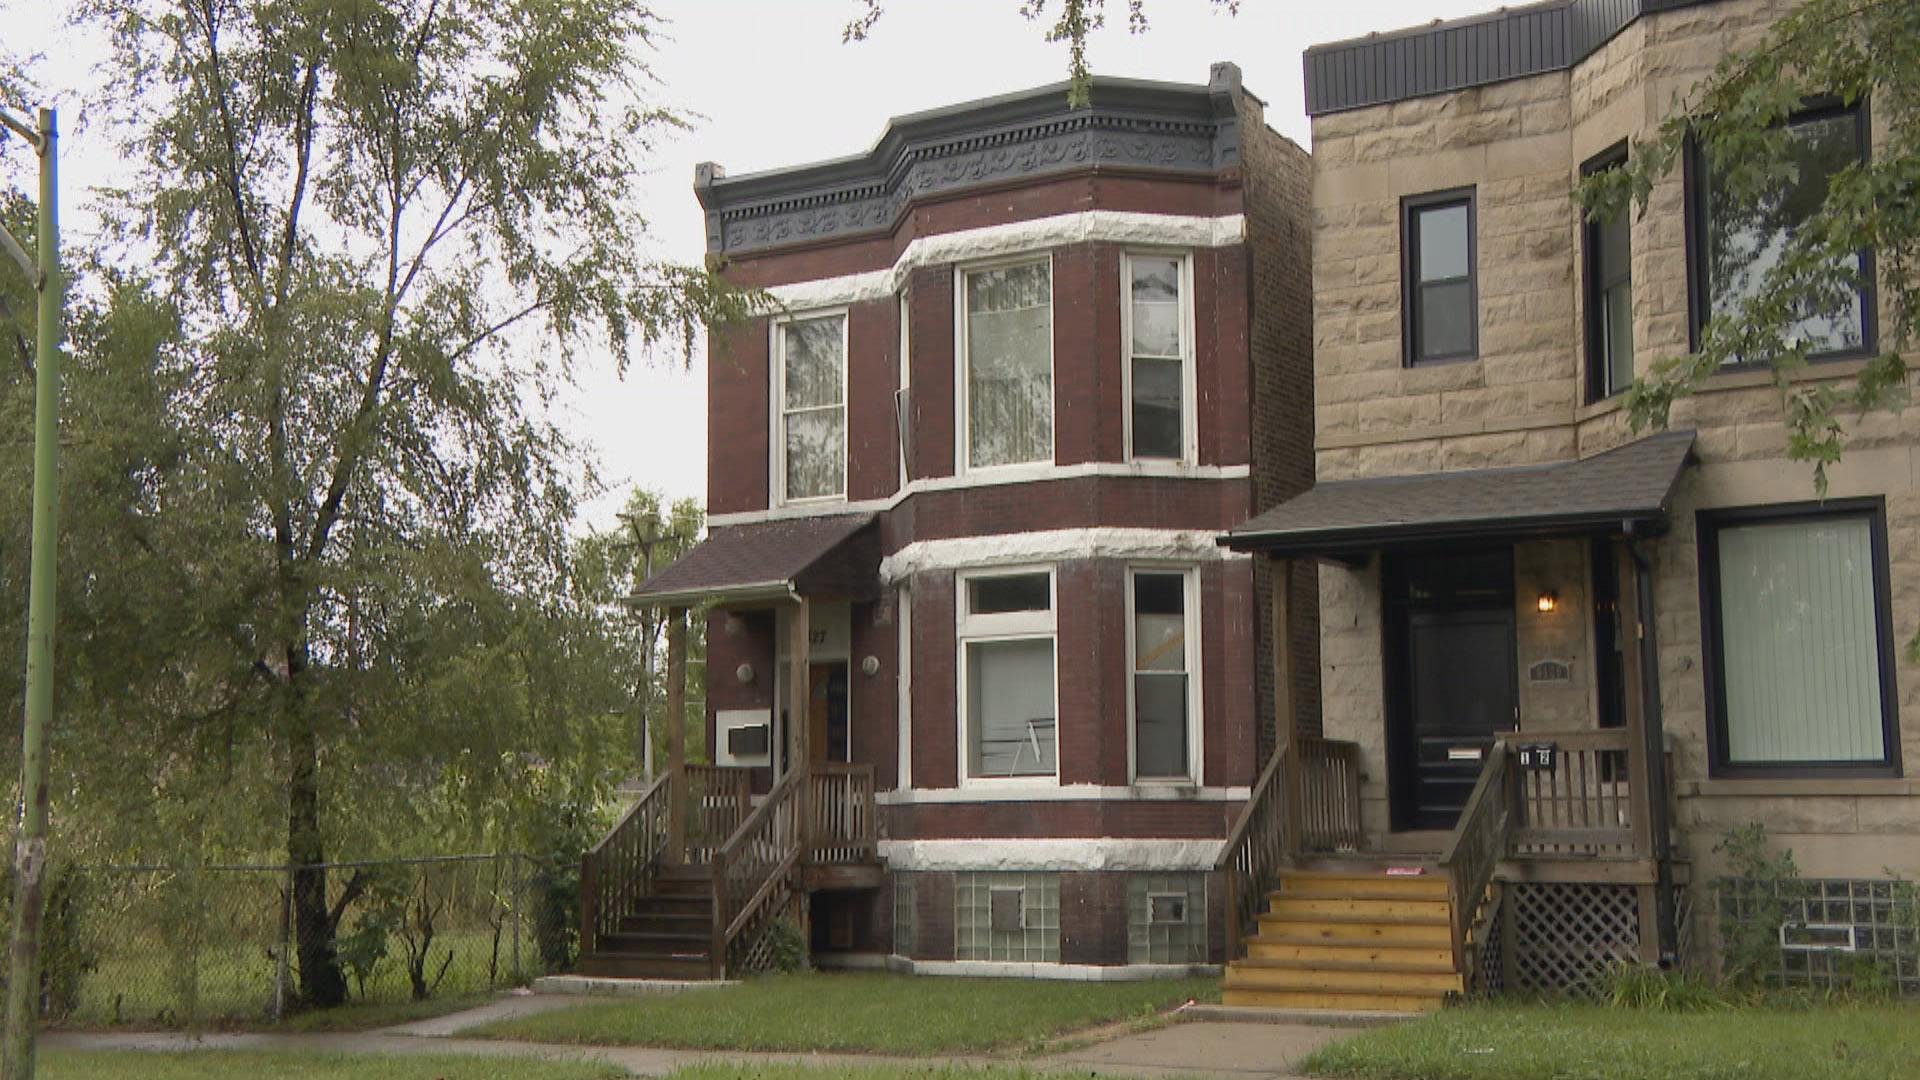
[(707, 867), (655, 867), (647, 892), (580, 957), (603, 978), (710, 978), (714, 878)]

